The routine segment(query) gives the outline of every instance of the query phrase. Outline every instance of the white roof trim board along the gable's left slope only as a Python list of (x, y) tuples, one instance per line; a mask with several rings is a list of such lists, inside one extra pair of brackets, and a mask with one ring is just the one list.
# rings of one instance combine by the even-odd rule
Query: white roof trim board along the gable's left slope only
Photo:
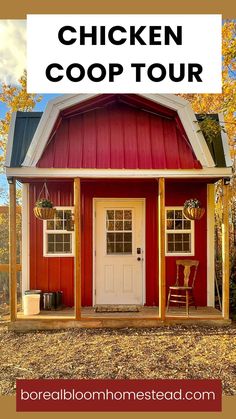
[(52, 132), (53, 126), (61, 110), (74, 106), (77, 103), (84, 102), (95, 94), (76, 94), (59, 96), (48, 102), (42, 118), (35, 131), (33, 140), (27, 151), (22, 166), (36, 166), (40, 159), (48, 138)]

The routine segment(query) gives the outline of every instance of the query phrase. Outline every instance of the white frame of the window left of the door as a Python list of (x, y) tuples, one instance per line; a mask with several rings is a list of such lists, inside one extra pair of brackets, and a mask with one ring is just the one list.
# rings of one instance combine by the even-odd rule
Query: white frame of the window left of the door
[[(58, 206), (55, 207), (57, 211), (61, 210), (71, 210), (72, 215), (74, 214), (74, 207), (62, 207)], [(75, 232), (74, 231), (67, 231), (67, 230), (47, 230), (47, 221), (50, 220), (43, 220), (43, 256), (44, 257), (74, 257), (75, 256)], [(47, 235), (48, 234), (71, 234), (71, 253), (47, 253)]]

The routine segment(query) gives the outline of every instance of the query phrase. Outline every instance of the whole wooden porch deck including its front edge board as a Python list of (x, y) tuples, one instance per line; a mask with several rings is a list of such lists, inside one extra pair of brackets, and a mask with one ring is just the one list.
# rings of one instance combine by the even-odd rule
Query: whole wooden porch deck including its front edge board
[(83, 307), (82, 317), (76, 320), (74, 309), (44, 311), (35, 316), (24, 316), (18, 313), (15, 322), (9, 322), (8, 328), (15, 331), (59, 330), (67, 328), (125, 328), (125, 327), (161, 327), (174, 324), (194, 324), (197, 326), (226, 326), (230, 320), (223, 318), (222, 313), (213, 307), (191, 307), (189, 317), (183, 308), (171, 307), (166, 318), (158, 317), (158, 307), (142, 307), (139, 312), (96, 313), (93, 307)]

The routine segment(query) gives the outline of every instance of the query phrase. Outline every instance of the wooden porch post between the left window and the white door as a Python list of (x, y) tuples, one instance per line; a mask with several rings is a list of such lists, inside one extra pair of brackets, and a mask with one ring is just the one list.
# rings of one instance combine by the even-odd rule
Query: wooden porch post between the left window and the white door
[(75, 227), (75, 318), (81, 319), (81, 188), (80, 178), (74, 179), (74, 227)]

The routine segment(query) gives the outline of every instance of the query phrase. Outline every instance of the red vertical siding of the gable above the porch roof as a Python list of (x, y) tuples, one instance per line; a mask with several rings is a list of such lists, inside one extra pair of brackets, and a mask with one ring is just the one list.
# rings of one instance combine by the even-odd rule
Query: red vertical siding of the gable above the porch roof
[(60, 117), (38, 167), (201, 168), (173, 111), (166, 116), (114, 102), (77, 112)]

